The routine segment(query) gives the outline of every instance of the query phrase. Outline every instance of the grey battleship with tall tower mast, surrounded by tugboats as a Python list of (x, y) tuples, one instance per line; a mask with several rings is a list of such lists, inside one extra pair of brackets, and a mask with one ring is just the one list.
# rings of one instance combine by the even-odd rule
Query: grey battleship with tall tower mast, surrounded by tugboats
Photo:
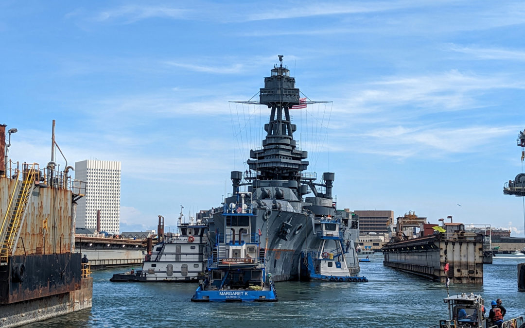
[[(295, 87), (295, 78), (282, 65), (275, 65), (271, 75), (265, 78), (265, 86), (260, 89), (259, 101), (241, 103), (266, 105), (270, 111), (270, 120), (265, 124), (267, 132), (262, 148), (250, 150), (247, 161), (249, 172), (233, 171), (232, 194), (224, 199), (223, 206), (237, 204), (244, 195), (245, 205), (252, 208), (253, 221), (248, 234), (260, 234), (261, 244), (266, 250), (266, 271), (272, 274), (274, 281), (291, 280), (299, 277), (301, 252), (318, 250), (321, 240), (317, 233), (321, 231), (321, 220), (327, 217), (338, 218), (341, 222), (343, 242), (349, 242), (346, 263), (349, 273), (359, 271), (359, 262), (355, 247), (359, 238), (359, 216), (350, 211), (336, 210), (332, 198), (334, 173), (325, 172), (322, 182), (316, 183), (315, 173), (307, 170), (308, 153), (297, 147), (293, 132), (297, 126), (291, 123), (289, 110), (293, 105), (313, 104), (317, 102), (299, 98), (299, 89)], [(240, 187), (246, 186), (247, 192), (241, 193)], [(312, 193), (313, 196), (304, 197)], [(248, 196), (249, 195), (249, 196)], [(239, 233), (245, 226), (232, 226), (231, 231), (224, 231), (225, 216), (223, 210), (213, 211), (210, 220), (210, 239), (215, 234), (225, 232)]]

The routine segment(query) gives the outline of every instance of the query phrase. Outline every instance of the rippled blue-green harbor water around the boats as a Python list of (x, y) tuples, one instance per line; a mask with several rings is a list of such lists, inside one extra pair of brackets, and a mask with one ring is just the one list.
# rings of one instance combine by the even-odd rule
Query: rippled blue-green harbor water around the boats
[[(118, 283), (109, 278), (125, 269), (95, 271), (92, 309), (26, 327), (428, 327), (448, 316), (445, 284), (384, 267), (381, 253), (370, 259), (360, 273), (369, 282), (279, 282), (276, 303), (192, 303), (196, 283)], [(525, 255), (498, 255), (485, 264), (483, 285), (450, 284), (449, 292), (479, 293), (485, 304), (501, 298), (507, 319), (525, 315), (522, 262)]]

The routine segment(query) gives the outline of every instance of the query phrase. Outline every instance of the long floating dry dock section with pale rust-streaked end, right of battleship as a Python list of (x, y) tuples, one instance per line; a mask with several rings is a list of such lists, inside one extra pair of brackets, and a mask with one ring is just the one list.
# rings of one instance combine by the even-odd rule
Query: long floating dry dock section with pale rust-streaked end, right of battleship
[(482, 284), (484, 235), (465, 231), (460, 223), (445, 223), (443, 229), (413, 239), (393, 238), (382, 248), (384, 266), (434, 281)]

